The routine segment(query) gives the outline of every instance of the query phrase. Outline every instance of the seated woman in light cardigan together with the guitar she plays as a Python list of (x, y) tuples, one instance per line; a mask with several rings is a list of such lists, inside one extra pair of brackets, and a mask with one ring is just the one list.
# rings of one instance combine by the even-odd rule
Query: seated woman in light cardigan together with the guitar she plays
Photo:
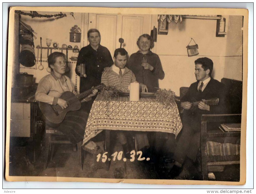
[[(91, 89), (77, 95), (72, 81), (64, 75), (67, 64), (66, 56), (63, 53), (53, 52), (50, 54), (48, 66), (52, 73), (43, 77), (38, 83), (35, 99), (40, 102), (40, 109), (46, 117), (46, 125), (55, 127), (65, 134), (73, 144), (76, 144), (83, 140), (89, 116), (88, 112), (78, 111), (81, 106), (80, 102), (89, 101), (98, 90)], [(75, 95), (76, 98), (74, 98)], [(63, 96), (66, 98), (62, 99)], [(83, 99), (79, 102), (79, 98)], [(68, 109), (76, 111), (66, 112)]]

